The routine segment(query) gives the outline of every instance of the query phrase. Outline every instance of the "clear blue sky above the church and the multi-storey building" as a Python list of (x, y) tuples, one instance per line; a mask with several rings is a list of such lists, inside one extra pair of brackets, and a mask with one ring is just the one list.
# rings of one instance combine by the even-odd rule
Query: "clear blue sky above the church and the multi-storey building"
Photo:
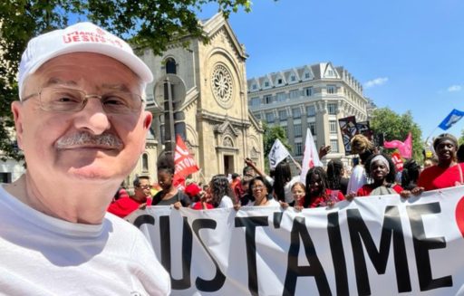
[[(247, 48), (247, 78), (333, 62), (377, 106), (411, 110), (423, 139), (450, 110), (464, 110), (464, 1), (256, 0), (229, 23)], [(448, 132), (461, 129), (464, 119)]]

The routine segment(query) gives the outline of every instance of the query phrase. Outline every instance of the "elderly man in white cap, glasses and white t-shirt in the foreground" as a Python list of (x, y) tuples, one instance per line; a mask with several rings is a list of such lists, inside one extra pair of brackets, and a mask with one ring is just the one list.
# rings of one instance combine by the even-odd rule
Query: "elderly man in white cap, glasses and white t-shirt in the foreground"
[(150, 69), (90, 23), (32, 39), (12, 111), (27, 171), (0, 188), (7, 295), (166, 295), (169, 274), (140, 231), (106, 214), (145, 147)]

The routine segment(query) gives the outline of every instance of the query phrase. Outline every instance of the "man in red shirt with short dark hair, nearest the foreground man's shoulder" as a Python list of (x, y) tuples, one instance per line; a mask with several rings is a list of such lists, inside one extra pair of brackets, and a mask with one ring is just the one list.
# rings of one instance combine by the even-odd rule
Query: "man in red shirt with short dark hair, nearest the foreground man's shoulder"
[(151, 205), (150, 177), (137, 177), (133, 185), (135, 190), (134, 196), (123, 197), (111, 203), (108, 207), (108, 212), (123, 218), (140, 207)]

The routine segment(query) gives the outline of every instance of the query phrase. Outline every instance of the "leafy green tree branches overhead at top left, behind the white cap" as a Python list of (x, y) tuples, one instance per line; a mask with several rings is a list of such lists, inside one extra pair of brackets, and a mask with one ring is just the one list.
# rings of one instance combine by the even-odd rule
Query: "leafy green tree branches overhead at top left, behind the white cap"
[[(196, 12), (215, 3), (225, 17), (250, 0), (5, 0), (0, 1), (0, 150), (3, 159), (20, 159), (8, 129), (13, 127), (10, 103), (18, 97), (16, 73), (27, 42), (39, 33), (90, 20), (122, 36), (136, 49), (160, 54), (183, 36), (206, 39)], [(70, 20), (73, 20), (70, 22)]]

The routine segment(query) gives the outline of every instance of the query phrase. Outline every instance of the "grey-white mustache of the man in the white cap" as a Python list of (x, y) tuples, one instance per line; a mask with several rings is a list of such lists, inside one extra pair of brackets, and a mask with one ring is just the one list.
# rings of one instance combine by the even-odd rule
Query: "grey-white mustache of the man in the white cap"
[(109, 133), (92, 135), (88, 132), (79, 132), (71, 136), (59, 138), (56, 141), (56, 148), (69, 148), (85, 145), (94, 145), (106, 148), (122, 148), (122, 141), (120, 138)]

